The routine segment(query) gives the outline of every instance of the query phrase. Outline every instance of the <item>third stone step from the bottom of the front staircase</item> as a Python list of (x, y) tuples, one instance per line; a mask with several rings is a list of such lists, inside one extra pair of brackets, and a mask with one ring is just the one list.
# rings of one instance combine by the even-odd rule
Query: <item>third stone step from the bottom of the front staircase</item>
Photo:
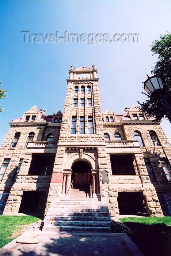
[(86, 222), (86, 221), (111, 221), (111, 217), (107, 216), (47, 216), (45, 217), (44, 221), (51, 221), (51, 220), (56, 220), (56, 221), (81, 221), (81, 222)]

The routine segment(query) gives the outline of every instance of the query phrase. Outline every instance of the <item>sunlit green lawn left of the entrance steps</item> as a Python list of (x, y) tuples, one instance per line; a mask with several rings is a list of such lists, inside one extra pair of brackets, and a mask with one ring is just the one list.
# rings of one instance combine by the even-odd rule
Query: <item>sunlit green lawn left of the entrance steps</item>
[(37, 221), (39, 221), (39, 218), (34, 216), (0, 215), (0, 248), (14, 240), (21, 234), (19, 231), (15, 231), (20, 230), (22, 225), (28, 225)]

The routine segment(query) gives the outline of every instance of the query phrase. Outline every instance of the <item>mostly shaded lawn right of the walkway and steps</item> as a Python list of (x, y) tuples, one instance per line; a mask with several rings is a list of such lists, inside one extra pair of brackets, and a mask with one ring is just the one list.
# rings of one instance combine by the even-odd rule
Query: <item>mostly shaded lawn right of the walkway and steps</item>
[(119, 218), (145, 256), (171, 256), (171, 217)]

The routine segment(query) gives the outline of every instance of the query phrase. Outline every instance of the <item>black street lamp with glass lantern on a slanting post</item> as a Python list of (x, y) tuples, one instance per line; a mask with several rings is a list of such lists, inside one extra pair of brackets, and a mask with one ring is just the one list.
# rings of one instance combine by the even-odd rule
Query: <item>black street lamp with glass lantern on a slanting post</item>
[(171, 123), (171, 106), (164, 98), (163, 83), (161, 81), (161, 78), (157, 76), (148, 76), (148, 79), (143, 83), (144, 89), (147, 91), (147, 93), (151, 95), (153, 98), (158, 99), (159, 103), (161, 104), (165, 111), (168, 120)]

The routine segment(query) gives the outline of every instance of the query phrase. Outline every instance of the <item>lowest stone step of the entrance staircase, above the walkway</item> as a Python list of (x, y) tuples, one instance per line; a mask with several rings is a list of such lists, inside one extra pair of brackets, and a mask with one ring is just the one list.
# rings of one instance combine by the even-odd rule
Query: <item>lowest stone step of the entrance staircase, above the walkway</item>
[(99, 232), (99, 233), (111, 233), (110, 227), (80, 227), (80, 226), (43, 226), (43, 230), (52, 231), (70, 231), (70, 232)]

